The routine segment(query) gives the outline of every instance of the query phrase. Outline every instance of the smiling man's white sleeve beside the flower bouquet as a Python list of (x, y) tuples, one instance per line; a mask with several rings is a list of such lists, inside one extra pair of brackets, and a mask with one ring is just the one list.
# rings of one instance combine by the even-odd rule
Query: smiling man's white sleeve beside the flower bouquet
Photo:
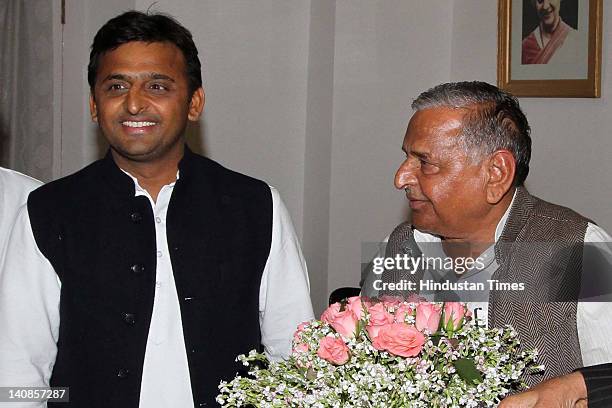
[(259, 289), (261, 342), (272, 360), (287, 358), (298, 324), (313, 318), (306, 262), (289, 212), (272, 192), (272, 244)]

